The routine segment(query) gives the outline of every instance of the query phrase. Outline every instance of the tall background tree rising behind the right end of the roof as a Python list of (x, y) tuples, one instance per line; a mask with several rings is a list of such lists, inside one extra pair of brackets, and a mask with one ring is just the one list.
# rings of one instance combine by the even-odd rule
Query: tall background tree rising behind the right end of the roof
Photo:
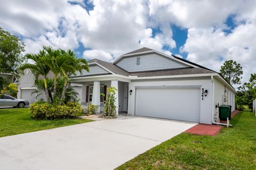
[(221, 66), (220, 74), (230, 83), (230, 84), (241, 84), (242, 79), (242, 66), (236, 61), (228, 60), (224, 62)]

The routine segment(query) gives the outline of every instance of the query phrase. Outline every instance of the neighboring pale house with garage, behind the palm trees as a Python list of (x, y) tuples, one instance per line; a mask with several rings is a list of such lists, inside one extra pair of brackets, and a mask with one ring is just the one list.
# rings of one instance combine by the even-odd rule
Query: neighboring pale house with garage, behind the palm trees
[[(52, 77), (50, 74), (48, 77)], [(19, 79), (15, 81), (15, 83), (18, 85), (18, 99), (24, 99), (28, 100), (29, 104), (34, 103), (35, 101), (45, 100), (46, 97), (44, 92), (41, 94), (37, 94), (34, 91), (36, 90), (35, 87), (35, 76), (34, 74), (29, 70), (26, 69), (24, 71), (24, 75), (22, 75)], [(78, 92), (78, 94), (81, 94), (82, 92), (82, 85), (80, 84), (71, 84), (74, 86), (74, 89)]]

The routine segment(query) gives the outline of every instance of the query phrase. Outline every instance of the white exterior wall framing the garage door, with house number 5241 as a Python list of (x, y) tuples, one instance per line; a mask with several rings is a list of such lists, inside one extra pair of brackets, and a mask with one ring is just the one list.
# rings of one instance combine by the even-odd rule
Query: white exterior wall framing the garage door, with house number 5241
[[(138, 81), (138, 82), (131, 82), (129, 83), (129, 91), (132, 90), (132, 95), (129, 95), (128, 98), (128, 114), (134, 115), (135, 113), (135, 95), (136, 95), (136, 87), (159, 87), (159, 86), (173, 86), (175, 88), (179, 86), (198, 86), (204, 88), (204, 90), (208, 90), (208, 95), (204, 97), (204, 100), (200, 100), (200, 123), (211, 124), (212, 123), (212, 81), (210, 77), (207, 79), (202, 80), (195, 80), (195, 79), (169, 79), (169, 80), (159, 80), (159, 81)], [(183, 106), (180, 103), (180, 107)]]

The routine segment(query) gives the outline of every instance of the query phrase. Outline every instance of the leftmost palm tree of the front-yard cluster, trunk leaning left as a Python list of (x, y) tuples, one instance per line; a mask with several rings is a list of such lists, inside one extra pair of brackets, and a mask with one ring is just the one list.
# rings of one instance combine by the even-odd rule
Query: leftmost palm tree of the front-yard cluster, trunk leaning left
[(47, 74), (50, 72), (51, 69), (49, 66), (43, 63), (44, 58), (46, 57), (45, 50), (40, 50), (38, 54), (26, 54), (25, 56), (27, 59), (34, 61), (34, 64), (32, 63), (22, 64), (18, 68), (18, 71), (21, 74), (24, 74), (24, 70), (30, 69), (35, 76), (35, 82), (38, 82), (38, 78), (42, 76), (44, 81), (44, 90), (45, 90), (46, 100), (48, 104), (51, 104), (47, 82), (46, 82)]

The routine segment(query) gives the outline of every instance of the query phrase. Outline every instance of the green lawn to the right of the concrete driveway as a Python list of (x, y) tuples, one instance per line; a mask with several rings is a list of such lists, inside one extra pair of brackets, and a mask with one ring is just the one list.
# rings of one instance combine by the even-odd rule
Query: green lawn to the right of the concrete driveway
[(256, 118), (240, 112), (215, 136), (181, 133), (116, 169), (256, 169)]

